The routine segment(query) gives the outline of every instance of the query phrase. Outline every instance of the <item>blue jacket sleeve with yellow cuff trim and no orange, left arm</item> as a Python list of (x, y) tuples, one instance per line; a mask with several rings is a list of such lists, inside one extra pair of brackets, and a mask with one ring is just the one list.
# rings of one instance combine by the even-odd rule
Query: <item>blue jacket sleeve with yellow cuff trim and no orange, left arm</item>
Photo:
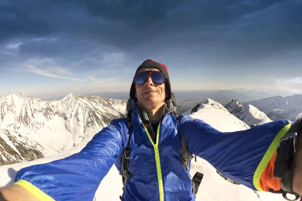
[(15, 184), (40, 200), (93, 200), (95, 192), (124, 147), (122, 119), (97, 133), (79, 153), (21, 169)]

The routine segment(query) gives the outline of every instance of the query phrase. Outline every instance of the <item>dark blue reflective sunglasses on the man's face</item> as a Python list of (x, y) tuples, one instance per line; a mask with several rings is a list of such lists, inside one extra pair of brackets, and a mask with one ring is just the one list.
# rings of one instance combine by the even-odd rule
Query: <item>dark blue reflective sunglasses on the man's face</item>
[(166, 80), (166, 76), (161, 71), (143, 71), (137, 73), (133, 80), (135, 84), (143, 84), (148, 77), (157, 84), (162, 84)]

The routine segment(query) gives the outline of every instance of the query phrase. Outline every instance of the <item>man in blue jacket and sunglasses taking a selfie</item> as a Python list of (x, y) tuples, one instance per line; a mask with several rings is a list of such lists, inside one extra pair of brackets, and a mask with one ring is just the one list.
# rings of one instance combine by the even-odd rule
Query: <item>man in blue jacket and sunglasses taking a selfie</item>
[[(126, 119), (115, 119), (81, 152), (21, 169), (16, 183), (1, 190), (3, 196), (8, 200), (92, 200), (114, 163), (121, 172), (123, 150), (129, 145), (126, 170), (130, 176), (122, 200), (195, 200), (189, 169), (180, 161), (180, 129), (188, 151), (224, 176), (253, 190), (302, 193), (302, 138), (295, 153), (287, 149), (292, 144), (283, 143), (296, 139), (292, 133), (301, 133), (302, 121), (290, 124), (280, 120), (222, 133), (202, 120), (183, 115), (176, 118), (171, 97), (167, 67), (144, 61), (130, 88), (133, 110), (129, 124)], [(281, 138), (284, 135), (291, 137)], [(282, 161), (290, 156), (294, 160), (284, 165)], [(289, 168), (293, 162), (294, 168)]]

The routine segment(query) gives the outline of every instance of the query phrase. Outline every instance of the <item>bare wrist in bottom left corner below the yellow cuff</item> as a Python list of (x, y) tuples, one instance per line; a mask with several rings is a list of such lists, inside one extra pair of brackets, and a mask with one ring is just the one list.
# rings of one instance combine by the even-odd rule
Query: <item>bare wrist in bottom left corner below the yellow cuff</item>
[(24, 201), (39, 201), (32, 193), (27, 191), (21, 185), (10, 185), (5, 188), (0, 188), (0, 201), (24, 200)]

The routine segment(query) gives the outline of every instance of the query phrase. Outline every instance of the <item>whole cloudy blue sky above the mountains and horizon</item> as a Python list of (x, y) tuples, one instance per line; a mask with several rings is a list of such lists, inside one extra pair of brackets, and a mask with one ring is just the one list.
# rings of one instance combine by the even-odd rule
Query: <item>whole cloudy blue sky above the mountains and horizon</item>
[(146, 59), (172, 89), (302, 93), (302, 1), (0, 0), (0, 95), (130, 89)]

